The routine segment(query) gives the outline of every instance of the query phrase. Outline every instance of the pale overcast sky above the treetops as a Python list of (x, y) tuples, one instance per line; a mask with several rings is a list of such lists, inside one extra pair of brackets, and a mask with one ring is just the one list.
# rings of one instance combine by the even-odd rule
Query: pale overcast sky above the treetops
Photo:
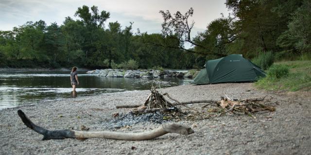
[[(134, 22), (133, 32), (156, 33), (163, 22), (159, 10), (183, 14), (192, 7), (194, 31), (203, 31), (208, 23), (228, 15), (225, 0), (0, 0), (0, 30), (8, 31), (27, 21), (44, 20), (47, 25), (61, 25), (66, 16), (74, 17), (78, 7), (98, 6), (99, 11), (110, 12), (108, 22), (118, 21), (122, 28)], [(107, 24), (105, 24), (107, 25)]]

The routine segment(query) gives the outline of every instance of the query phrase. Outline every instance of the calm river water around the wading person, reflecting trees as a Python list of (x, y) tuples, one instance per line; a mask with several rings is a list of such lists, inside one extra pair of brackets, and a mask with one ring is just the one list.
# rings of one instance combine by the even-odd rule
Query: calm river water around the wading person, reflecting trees
[(190, 84), (180, 78), (105, 78), (78, 72), (80, 85), (71, 92), (69, 71), (0, 72), (0, 109), (102, 93), (148, 90), (152, 85), (171, 87)]

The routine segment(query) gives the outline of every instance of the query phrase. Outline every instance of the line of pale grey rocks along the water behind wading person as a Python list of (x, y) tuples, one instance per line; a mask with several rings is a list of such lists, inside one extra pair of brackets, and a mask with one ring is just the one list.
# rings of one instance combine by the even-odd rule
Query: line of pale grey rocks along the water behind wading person
[(109, 78), (192, 78), (193, 72), (172, 70), (122, 70), (122, 69), (96, 69), (87, 71), (87, 74), (98, 74), (99, 77)]

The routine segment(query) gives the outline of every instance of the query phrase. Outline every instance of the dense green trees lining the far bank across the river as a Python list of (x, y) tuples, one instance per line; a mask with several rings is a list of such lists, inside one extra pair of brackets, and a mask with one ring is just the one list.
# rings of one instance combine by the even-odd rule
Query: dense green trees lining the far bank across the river
[(106, 23), (110, 13), (100, 12), (96, 6), (79, 7), (75, 16), (78, 19), (66, 17), (62, 25), (47, 25), (39, 20), (12, 31), (0, 31), (0, 66), (110, 68), (130, 60), (146, 69), (191, 68), (194, 64), (193, 56), (180, 58), (180, 49), (145, 43), (149, 40), (174, 44), (173, 40), (139, 29), (133, 33), (133, 23), (124, 28), (118, 21)]

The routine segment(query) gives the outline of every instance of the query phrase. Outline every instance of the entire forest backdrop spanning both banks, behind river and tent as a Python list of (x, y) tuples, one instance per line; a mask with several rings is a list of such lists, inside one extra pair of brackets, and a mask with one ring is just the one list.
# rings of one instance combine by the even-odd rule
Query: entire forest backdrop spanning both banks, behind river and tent
[(61, 25), (39, 20), (0, 31), (0, 67), (185, 69), (228, 54), (253, 59), (266, 52), (278, 61), (310, 59), (310, 0), (226, 0), (225, 5), (231, 14), (195, 36), (190, 36), (192, 8), (185, 14), (160, 11), (162, 33), (148, 34), (132, 30), (134, 23), (106, 23), (109, 12), (84, 5), (76, 20), (68, 16)]

